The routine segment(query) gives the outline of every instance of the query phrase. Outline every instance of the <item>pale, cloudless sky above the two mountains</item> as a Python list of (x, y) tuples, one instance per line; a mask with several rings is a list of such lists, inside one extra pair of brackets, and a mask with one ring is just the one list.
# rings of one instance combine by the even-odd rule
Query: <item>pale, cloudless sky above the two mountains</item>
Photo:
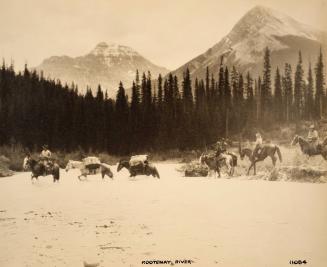
[(22, 69), (50, 56), (85, 55), (105, 41), (174, 70), (256, 5), (327, 31), (327, 0), (0, 0), (0, 57)]

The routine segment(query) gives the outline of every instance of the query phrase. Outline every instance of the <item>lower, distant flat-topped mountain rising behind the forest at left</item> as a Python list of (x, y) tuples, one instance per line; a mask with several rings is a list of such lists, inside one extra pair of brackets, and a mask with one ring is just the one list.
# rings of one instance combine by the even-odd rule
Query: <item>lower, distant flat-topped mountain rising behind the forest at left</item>
[(53, 56), (36, 68), (42, 70), (45, 77), (60, 79), (68, 84), (74, 82), (80, 92), (85, 92), (86, 86), (96, 92), (101, 84), (110, 97), (115, 96), (120, 81), (125, 88), (131, 87), (137, 69), (140, 73), (150, 71), (153, 77), (168, 72), (166, 68), (153, 64), (130, 47), (105, 42), (99, 43), (85, 56)]

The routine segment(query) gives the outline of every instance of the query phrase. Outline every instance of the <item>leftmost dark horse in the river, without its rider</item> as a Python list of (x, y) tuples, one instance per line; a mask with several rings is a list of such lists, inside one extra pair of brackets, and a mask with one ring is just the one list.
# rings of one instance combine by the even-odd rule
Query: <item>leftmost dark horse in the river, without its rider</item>
[(39, 176), (46, 176), (46, 175), (52, 175), (53, 176), (53, 182), (59, 182), (60, 178), (60, 168), (57, 163), (53, 163), (52, 166), (47, 168), (43, 162), (37, 161), (35, 159), (32, 159), (31, 157), (26, 157), (24, 159), (24, 170), (27, 170), (28, 168), (31, 169), (31, 180), (33, 181), (33, 178), (38, 180)]

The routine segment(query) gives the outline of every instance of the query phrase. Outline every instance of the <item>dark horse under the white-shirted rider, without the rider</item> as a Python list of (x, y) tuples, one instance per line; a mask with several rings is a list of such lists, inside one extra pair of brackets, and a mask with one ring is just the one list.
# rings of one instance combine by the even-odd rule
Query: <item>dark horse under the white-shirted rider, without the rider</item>
[(248, 159), (251, 162), (251, 165), (250, 165), (250, 167), (249, 167), (249, 169), (247, 171), (247, 175), (249, 175), (250, 170), (252, 169), (252, 167), (253, 167), (253, 171), (254, 171), (253, 174), (256, 175), (256, 163), (258, 161), (263, 161), (267, 157), (271, 158), (272, 164), (275, 167), (276, 161), (277, 161), (275, 153), (277, 153), (279, 161), (282, 162), (282, 154), (281, 154), (280, 149), (279, 149), (279, 147), (277, 145), (266, 144), (266, 145), (263, 145), (260, 150), (261, 151), (260, 151), (259, 155), (257, 157), (255, 157), (253, 155), (252, 149), (250, 149), (250, 148), (243, 148), (242, 149), (241, 148), (241, 143), (239, 143), (239, 153), (240, 153), (241, 160), (243, 160), (244, 157), (247, 156)]

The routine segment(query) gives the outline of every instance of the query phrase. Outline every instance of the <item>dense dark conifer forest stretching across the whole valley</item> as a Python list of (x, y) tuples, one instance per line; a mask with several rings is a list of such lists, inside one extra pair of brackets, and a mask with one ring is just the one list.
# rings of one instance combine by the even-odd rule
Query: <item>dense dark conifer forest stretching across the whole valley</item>
[[(169, 74), (136, 73), (130, 99), (122, 83), (116, 99), (99, 85), (63, 85), (31, 72), (20, 73), (3, 62), (0, 70), (0, 145), (21, 144), (37, 150), (142, 151), (203, 148), (219, 137), (269, 129), (273, 125), (318, 120), (327, 113), (321, 51), (304, 71), (298, 64), (271, 69), (270, 50), (264, 54), (262, 76), (221, 64), (207, 69), (205, 79), (182, 81)], [(128, 85), (130, 88), (131, 85)]]

